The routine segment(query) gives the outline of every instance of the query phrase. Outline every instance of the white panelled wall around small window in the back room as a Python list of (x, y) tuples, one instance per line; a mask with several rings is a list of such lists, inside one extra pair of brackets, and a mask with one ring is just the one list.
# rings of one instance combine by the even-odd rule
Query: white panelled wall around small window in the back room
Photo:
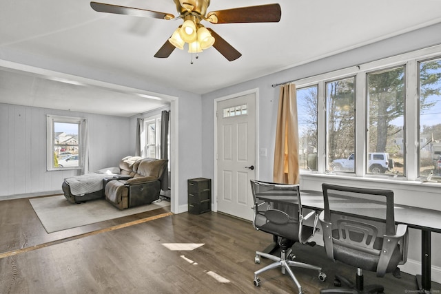
[(63, 179), (79, 173), (46, 171), (46, 114), (88, 119), (91, 170), (131, 154), (127, 118), (0, 103), (0, 197), (61, 191)]

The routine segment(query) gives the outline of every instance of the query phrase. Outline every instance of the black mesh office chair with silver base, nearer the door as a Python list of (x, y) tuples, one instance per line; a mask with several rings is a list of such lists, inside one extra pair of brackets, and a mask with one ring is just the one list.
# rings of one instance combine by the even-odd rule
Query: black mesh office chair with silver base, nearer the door
[[(314, 269), (318, 271), (319, 280), (325, 281), (326, 275), (322, 273), (322, 269), (319, 266), (295, 262), (293, 261), (295, 256), (291, 255), (291, 246), (295, 242), (307, 243), (314, 235), (318, 223), (316, 211), (311, 211), (307, 216), (303, 216), (299, 186), (256, 180), (251, 180), (251, 186), (254, 197), (254, 228), (278, 236), (278, 245), (281, 249), (280, 258), (256, 251), (254, 262), (260, 263), (260, 256), (263, 256), (269, 260), (274, 260), (274, 263), (254, 272), (254, 286), (259, 286), (260, 284), (260, 278), (258, 277), (260, 273), (281, 267), (282, 273), (285, 274), (287, 271), (296, 283), (298, 292), (302, 293), (302, 286), (300, 286), (289, 266)], [(311, 217), (315, 217), (314, 227), (305, 226), (303, 221)]]

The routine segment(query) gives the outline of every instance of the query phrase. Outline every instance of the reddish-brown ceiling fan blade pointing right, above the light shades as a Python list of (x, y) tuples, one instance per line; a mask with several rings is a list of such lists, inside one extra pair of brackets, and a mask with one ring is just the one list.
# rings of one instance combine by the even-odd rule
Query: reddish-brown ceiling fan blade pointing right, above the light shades
[(278, 3), (212, 11), (207, 14), (211, 23), (277, 23), (282, 16)]

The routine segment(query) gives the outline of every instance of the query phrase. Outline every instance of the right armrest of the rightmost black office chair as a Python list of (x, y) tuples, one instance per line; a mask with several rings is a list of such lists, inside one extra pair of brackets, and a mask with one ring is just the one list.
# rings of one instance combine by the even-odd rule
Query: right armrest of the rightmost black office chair
[(386, 273), (392, 253), (396, 250), (396, 246), (400, 241), (402, 241), (400, 243), (402, 259), (407, 259), (407, 225), (405, 224), (398, 224), (395, 235), (383, 235), (383, 245), (377, 266), (378, 277), (383, 277)]

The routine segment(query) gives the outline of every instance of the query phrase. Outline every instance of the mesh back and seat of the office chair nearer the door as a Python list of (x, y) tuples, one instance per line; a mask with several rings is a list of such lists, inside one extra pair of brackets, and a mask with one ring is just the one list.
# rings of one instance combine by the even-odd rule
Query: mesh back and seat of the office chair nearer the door
[[(252, 180), (254, 196), (254, 228), (287, 238), (306, 242), (312, 227), (302, 225), (302, 204), (298, 185), (278, 185)], [(268, 200), (266, 198), (276, 200)]]

